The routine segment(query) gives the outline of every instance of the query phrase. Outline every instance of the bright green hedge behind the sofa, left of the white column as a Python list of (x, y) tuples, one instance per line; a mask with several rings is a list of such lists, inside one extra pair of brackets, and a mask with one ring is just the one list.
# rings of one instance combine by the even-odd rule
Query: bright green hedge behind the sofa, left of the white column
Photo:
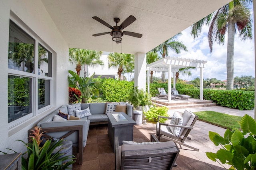
[(126, 102), (134, 90), (134, 82), (105, 79), (102, 83), (102, 94), (108, 102)]

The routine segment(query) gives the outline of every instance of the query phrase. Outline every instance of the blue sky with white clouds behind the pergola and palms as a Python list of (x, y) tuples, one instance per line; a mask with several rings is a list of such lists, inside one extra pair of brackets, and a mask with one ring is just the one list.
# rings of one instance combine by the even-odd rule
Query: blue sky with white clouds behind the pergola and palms
[[(168, 51), (168, 56), (207, 61), (203, 69), (204, 79), (217, 78), (218, 80), (226, 80), (227, 34), (224, 45), (218, 45), (214, 42), (213, 51), (210, 53), (207, 39), (208, 29), (208, 26), (204, 26), (200, 37), (196, 39), (193, 39), (190, 35), (190, 27), (182, 31), (182, 35), (178, 37), (178, 40), (186, 45), (188, 52), (182, 51), (180, 54), (176, 54)], [(252, 41), (241, 41), (237, 33), (234, 44), (234, 77), (242, 75), (255, 77), (254, 69), (254, 39)], [(200, 69), (192, 70), (192, 76), (180, 75), (183, 80), (194, 80), (196, 77), (200, 77)]]

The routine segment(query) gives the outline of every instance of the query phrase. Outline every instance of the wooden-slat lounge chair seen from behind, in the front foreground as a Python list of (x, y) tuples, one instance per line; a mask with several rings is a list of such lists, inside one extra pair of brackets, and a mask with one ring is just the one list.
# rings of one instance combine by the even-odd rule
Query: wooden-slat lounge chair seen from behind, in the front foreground
[(118, 146), (118, 137), (115, 137), (115, 143), (116, 170), (170, 170), (174, 167), (180, 152), (172, 141), (161, 143), (126, 141), (123, 145)]

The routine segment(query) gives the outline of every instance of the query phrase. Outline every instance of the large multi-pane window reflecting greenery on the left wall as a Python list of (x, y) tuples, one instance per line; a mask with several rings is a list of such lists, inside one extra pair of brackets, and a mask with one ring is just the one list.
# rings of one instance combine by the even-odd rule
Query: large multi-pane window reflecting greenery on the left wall
[(10, 20), (8, 123), (15, 125), (51, 107), (52, 53)]

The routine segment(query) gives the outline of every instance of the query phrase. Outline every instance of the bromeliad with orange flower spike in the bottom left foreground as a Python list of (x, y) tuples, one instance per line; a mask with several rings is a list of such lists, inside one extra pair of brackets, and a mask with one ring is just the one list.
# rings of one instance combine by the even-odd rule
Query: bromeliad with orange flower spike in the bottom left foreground
[[(31, 142), (24, 143), (27, 148), (27, 151), (22, 154), (22, 170), (65, 170), (70, 169), (68, 166), (76, 162), (74, 155), (63, 156), (65, 153), (60, 153), (64, 148), (58, 150), (54, 153), (55, 149), (61, 147), (63, 139), (52, 141), (50, 139), (41, 139), (43, 133), (40, 133), (41, 127), (34, 127), (31, 136), (28, 138)], [(42, 145), (42, 141), (44, 144)], [(12, 149), (8, 149), (12, 150)], [(14, 151), (14, 150), (12, 150)], [(2, 151), (0, 151), (2, 152)], [(15, 151), (14, 151), (15, 152)], [(6, 152), (2, 152), (7, 154)], [(15, 152), (17, 153), (17, 152)], [(25, 157), (25, 155), (27, 155)]]

